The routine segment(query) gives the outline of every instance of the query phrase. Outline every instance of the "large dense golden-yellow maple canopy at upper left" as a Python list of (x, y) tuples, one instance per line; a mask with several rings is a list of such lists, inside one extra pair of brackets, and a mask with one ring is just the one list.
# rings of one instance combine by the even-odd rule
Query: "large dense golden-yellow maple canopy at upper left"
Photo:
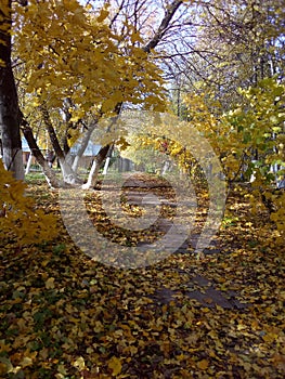
[[(94, 105), (100, 105), (100, 115), (111, 114), (120, 102), (161, 109), (160, 70), (133, 45), (140, 40), (133, 28), (121, 50), (121, 36), (104, 22), (106, 8), (94, 16), (76, 0), (31, 0), (24, 9), (15, 6), (14, 50), (24, 63), (18, 75), (28, 96), (38, 92), (35, 106), (44, 102), (48, 108), (59, 108), (68, 96), (83, 113), (80, 117)], [(73, 116), (74, 120), (78, 115)]]

